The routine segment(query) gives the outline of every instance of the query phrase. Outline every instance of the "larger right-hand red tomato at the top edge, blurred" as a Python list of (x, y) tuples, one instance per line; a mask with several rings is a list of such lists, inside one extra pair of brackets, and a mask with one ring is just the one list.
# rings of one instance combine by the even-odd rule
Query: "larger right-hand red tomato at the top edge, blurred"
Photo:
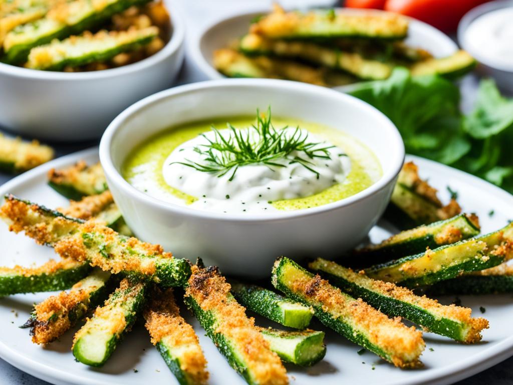
[(385, 10), (402, 13), (452, 32), (470, 9), (489, 0), (387, 0)]

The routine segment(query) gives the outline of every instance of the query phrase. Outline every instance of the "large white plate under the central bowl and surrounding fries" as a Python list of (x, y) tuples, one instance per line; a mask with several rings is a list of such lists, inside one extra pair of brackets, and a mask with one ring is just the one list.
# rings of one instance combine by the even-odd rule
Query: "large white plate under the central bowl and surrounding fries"
[[(420, 166), (422, 177), (429, 178), (430, 183), (440, 189), (444, 199), (448, 199), (447, 185), (458, 191), (463, 209), (479, 215), (484, 232), (502, 227), (508, 219), (513, 219), (513, 196), (507, 192), (450, 167), (421, 158), (408, 158)], [(46, 185), (46, 174), (51, 167), (63, 167), (80, 159), (96, 162), (97, 150), (78, 152), (28, 171), (0, 187), (0, 193), (4, 195), (11, 192), (49, 207), (65, 205), (66, 200)], [(495, 210), (493, 216), (489, 216), (491, 209)], [(390, 226), (386, 223), (374, 227), (370, 233), (371, 240), (376, 242), (388, 236), (388, 229)], [(54, 257), (51, 248), (37, 246), (22, 234), (9, 233), (3, 224), (0, 224), (0, 245), (0, 265), (42, 263)], [(32, 304), (47, 296), (43, 293), (0, 299), (0, 357), (29, 374), (59, 385), (176, 383), (159, 353), (149, 343), (141, 324), (135, 326), (102, 369), (92, 369), (74, 361), (70, 351), (73, 331), (48, 348), (33, 345), (28, 331), (18, 329), (17, 326), (28, 319)], [(450, 303), (453, 299), (442, 298), (442, 302)], [(306, 370), (288, 367), (291, 384), (446, 384), (478, 373), (513, 354), (513, 336), (510, 333), (513, 319), (511, 295), (461, 297), (461, 300), (463, 305), (472, 308), (476, 316), (481, 315), (480, 306), (485, 307), (484, 316), (490, 321), (490, 329), (484, 331), (483, 342), (462, 345), (426, 333), (424, 337), (427, 347), (422, 356), (425, 367), (402, 371), (372, 353), (358, 355), (360, 348), (357, 345), (335, 333), (327, 332), (328, 351), (325, 359)], [(200, 336), (211, 374), (210, 383), (243, 385), (244, 381), (229, 368), (198, 322), (187, 311), (183, 313)], [(266, 325), (260, 318), (257, 318), (257, 323)], [(312, 328), (325, 330), (317, 322), (312, 323)]]

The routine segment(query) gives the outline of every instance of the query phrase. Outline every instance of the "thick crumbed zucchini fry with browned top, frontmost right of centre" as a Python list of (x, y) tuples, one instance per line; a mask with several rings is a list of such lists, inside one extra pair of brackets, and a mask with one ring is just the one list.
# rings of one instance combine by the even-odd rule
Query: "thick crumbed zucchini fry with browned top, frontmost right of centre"
[(399, 318), (388, 318), (285, 257), (274, 263), (272, 283), (288, 297), (312, 306), (315, 317), (350, 341), (397, 367), (420, 365), (425, 347), (422, 333), (413, 326), (407, 328)]

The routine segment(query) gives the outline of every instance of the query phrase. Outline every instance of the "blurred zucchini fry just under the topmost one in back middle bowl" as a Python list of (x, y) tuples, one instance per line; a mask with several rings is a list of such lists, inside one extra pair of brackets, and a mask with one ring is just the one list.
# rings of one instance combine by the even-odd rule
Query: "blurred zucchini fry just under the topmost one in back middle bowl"
[(300, 59), (313, 65), (346, 71), (359, 79), (382, 80), (391, 73), (391, 66), (377, 60), (365, 59), (356, 52), (343, 52), (309, 42), (267, 40), (254, 33), (242, 38), (240, 50), (246, 55), (275, 55), (286, 59)]

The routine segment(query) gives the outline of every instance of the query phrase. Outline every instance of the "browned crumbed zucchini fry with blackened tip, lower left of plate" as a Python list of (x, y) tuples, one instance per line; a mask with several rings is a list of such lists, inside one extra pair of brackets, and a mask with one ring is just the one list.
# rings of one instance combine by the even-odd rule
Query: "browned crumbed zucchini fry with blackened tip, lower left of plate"
[(69, 292), (61, 292), (35, 305), (32, 317), (24, 325), (31, 328), (32, 342), (47, 344), (61, 337), (105, 300), (109, 279), (110, 273), (95, 268)]

